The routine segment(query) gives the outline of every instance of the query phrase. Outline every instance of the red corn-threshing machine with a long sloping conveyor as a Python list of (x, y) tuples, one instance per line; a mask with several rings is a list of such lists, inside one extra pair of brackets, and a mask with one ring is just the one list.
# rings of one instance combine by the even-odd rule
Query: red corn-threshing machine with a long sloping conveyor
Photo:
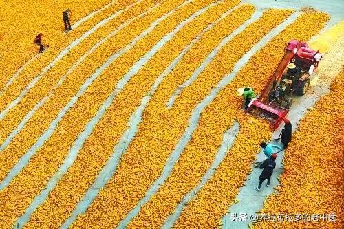
[(257, 114), (274, 122), (277, 129), (292, 105), (291, 95), (302, 96), (308, 91), (310, 76), (321, 58), (319, 50), (311, 50), (307, 43), (290, 41), (268, 85), (252, 100), (249, 111), (258, 111)]

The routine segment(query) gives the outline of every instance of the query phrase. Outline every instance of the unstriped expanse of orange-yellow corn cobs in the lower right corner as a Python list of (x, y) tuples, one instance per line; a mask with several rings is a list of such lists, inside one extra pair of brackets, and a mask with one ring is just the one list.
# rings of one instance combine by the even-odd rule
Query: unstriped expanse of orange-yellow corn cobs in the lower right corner
[(284, 154), (281, 184), (260, 211), (300, 214), (305, 219), (264, 221), (254, 228), (343, 228), (343, 84), (344, 71), (332, 82), (330, 93), (299, 122)]

